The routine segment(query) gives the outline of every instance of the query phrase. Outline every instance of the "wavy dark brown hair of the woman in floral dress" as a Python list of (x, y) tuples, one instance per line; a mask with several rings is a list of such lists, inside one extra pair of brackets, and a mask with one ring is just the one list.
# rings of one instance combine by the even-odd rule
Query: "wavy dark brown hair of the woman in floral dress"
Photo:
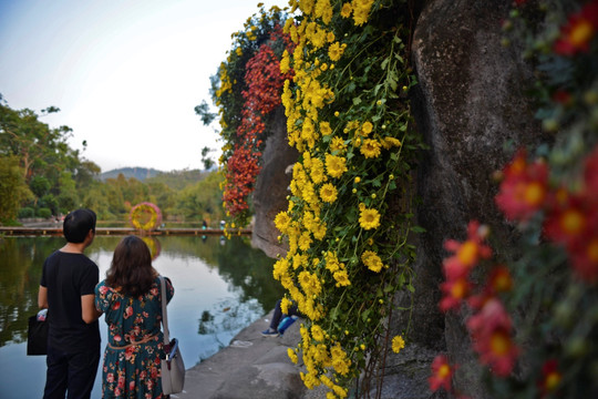
[(121, 239), (106, 272), (106, 285), (136, 297), (146, 294), (156, 277), (150, 248), (143, 239), (136, 236)]

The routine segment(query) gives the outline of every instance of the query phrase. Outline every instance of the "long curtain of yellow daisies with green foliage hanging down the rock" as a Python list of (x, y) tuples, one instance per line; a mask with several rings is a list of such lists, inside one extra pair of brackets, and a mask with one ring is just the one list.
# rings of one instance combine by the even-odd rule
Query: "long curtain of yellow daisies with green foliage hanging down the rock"
[[(292, 170), (288, 209), (276, 216), (288, 252), (274, 276), (307, 316), (300, 328), (308, 388), (344, 398), (361, 374), (363, 391), (389, 342), (393, 296), (413, 290), (410, 171), (422, 149), (406, 93), (406, 1), (290, 1), (285, 23), (282, 104)], [(406, 331), (408, 326), (403, 330)], [(392, 339), (392, 349), (405, 345)], [(358, 393), (359, 395), (359, 393)]]

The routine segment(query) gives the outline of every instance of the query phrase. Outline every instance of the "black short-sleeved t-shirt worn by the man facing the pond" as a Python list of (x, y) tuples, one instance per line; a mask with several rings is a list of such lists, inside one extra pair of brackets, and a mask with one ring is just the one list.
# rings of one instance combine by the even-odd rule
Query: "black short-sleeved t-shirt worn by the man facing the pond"
[(85, 324), (81, 296), (94, 294), (100, 269), (83, 254), (54, 252), (43, 263), (41, 286), (48, 288), (49, 345), (65, 352), (97, 350), (97, 320)]

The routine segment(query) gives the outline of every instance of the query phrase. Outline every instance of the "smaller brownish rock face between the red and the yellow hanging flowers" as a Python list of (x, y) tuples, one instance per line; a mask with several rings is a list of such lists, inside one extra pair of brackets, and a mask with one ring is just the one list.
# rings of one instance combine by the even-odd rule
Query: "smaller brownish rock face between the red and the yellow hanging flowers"
[(285, 111), (279, 108), (274, 115), (271, 131), (266, 140), (262, 155), (262, 168), (256, 181), (254, 192), (255, 219), (251, 234), (251, 245), (264, 250), (269, 257), (283, 255), (285, 247), (278, 243), (280, 232), (274, 224), (274, 218), (288, 206), (288, 186), (291, 173), (288, 172), (297, 161), (297, 150), (289, 146), (287, 141), (287, 124)]

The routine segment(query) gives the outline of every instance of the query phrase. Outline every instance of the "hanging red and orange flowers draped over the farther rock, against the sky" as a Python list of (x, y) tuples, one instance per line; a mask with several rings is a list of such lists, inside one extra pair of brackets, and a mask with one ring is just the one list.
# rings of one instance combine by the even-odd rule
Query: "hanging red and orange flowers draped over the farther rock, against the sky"
[(268, 115), (280, 105), (285, 79), (279, 63), (282, 49), (292, 44), (282, 33), (280, 9), (260, 9), (260, 17), (249, 18), (246, 30), (234, 34), (234, 51), (219, 70), (215, 90), (220, 108), (221, 137), (225, 142), (220, 164), (225, 173), (224, 207), (239, 226), (249, 218), (249, 195), (261, 170), (261, 151)]

